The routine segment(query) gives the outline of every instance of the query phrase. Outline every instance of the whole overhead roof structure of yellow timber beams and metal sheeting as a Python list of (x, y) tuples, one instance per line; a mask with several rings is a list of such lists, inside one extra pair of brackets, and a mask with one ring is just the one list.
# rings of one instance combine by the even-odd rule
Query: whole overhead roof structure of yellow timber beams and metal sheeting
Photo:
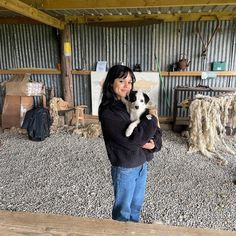
[(0, 0), (0, 7), (0, 24), (40, 22), (60, 30), (68, 22), (149, 24), (197, 21), (202, 15), (208, 16), (204, 20), (214, 20), (215, 16), (219, 20), (236, 19), (235, 0)]

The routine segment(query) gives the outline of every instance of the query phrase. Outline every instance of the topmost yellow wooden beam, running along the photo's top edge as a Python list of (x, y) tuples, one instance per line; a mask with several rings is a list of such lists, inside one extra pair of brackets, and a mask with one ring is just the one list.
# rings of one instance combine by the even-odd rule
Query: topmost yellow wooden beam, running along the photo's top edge
[(143, 8), (170, 6), (205, 6), (205, 5), (236, 5), (235, 0), (43, 0), (43, 9), (98, 9), (98, 8)]

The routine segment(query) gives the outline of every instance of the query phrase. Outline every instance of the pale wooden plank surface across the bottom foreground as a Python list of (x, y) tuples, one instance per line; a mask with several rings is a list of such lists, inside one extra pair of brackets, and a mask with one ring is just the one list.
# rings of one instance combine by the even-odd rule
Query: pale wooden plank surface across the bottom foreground
[(102, 220), (65, 215), (0, 211), (0, 235), (235, 236), (236, 232), (159, 224), (124, 223), (109, 219)]

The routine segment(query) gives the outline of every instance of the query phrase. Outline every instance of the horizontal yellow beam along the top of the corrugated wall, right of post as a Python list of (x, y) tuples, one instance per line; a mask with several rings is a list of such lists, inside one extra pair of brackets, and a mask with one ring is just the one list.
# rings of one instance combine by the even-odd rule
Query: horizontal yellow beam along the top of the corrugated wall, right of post
[(151, 14), (151, 15), (113, 15), (113, 16), (68, 16), (66, 22), (76, 22), (79, 24), (97, 24), (97, 25), (122, 25), (135, 23), (159, 23), (162, 21), (197, 21), (201, 16), (204, 20), (232, 20), (236, 18), (236, 12), (211, 12), (211, 13), (176, 13), (176, 14)]

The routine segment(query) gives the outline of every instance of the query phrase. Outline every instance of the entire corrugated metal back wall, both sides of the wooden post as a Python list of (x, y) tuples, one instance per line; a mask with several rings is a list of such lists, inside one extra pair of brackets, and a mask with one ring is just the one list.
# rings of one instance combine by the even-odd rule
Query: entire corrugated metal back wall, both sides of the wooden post
[[(216, 21), (198, 25), (207, 44)], [(220, 21), (220, 31), (209, 43), (207, 57), (201, 58), (203, 43), (197, 34), (197, 22), (170, 22), (136, 27), (71, 25), (73, 69), (95, 70), (97, 61), (108, 67), (124, 62), (143, 71), (167, 71), (182, 55), (191, 60), (189, 71), (210, 70), (211, 62), (225, 61), (226, 70), (236, 70), (235, 21)], [(60, 61), (58, 32), (45, 25), (0, 25), (0, 69), (17, 67), (55, 68)], [(8, 79), (0, 75), (0, 82)], [(59, 75), (34, 75), (61, 96)], [(201, 81), (199, 77), (163, 77), (159, 103), (162, 116), (172, 115), (173, 89), (177, 85), (236, 87), (236, 77), (218, 77)], [(75, 105), (88, 105), (91, 112), (90, 76), (73, 76)], [(0, 102), (1, 106), (1, 102)]]

